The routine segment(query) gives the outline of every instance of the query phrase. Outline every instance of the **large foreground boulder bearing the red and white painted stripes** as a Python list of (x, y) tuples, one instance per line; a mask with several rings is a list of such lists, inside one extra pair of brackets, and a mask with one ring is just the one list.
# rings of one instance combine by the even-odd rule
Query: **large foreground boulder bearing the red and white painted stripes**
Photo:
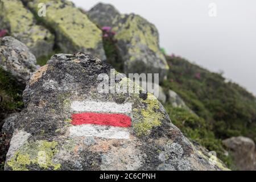
[(223, 169), (142, 91), (96, 57), (52, 56), (24, 90), (5, 170)]

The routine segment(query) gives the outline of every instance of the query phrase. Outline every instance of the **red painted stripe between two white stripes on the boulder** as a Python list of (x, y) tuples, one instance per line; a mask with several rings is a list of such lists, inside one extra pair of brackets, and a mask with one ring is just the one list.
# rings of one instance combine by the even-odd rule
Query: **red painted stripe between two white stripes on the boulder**
[(125, 114), (78, 113), (72, 114), (72, 125), (94, 124), (118, 127), (131, 126), (131, 118)]

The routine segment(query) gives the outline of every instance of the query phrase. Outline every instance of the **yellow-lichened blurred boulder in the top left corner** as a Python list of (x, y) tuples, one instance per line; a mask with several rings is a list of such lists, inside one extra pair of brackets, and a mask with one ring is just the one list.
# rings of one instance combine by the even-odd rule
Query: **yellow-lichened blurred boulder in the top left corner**
[(26, 44), (36, 56), (52, 51), (54, 36), (43, 26), (36, 25), (33, 14), (19, 0), (1, 0), (0, 27)]

